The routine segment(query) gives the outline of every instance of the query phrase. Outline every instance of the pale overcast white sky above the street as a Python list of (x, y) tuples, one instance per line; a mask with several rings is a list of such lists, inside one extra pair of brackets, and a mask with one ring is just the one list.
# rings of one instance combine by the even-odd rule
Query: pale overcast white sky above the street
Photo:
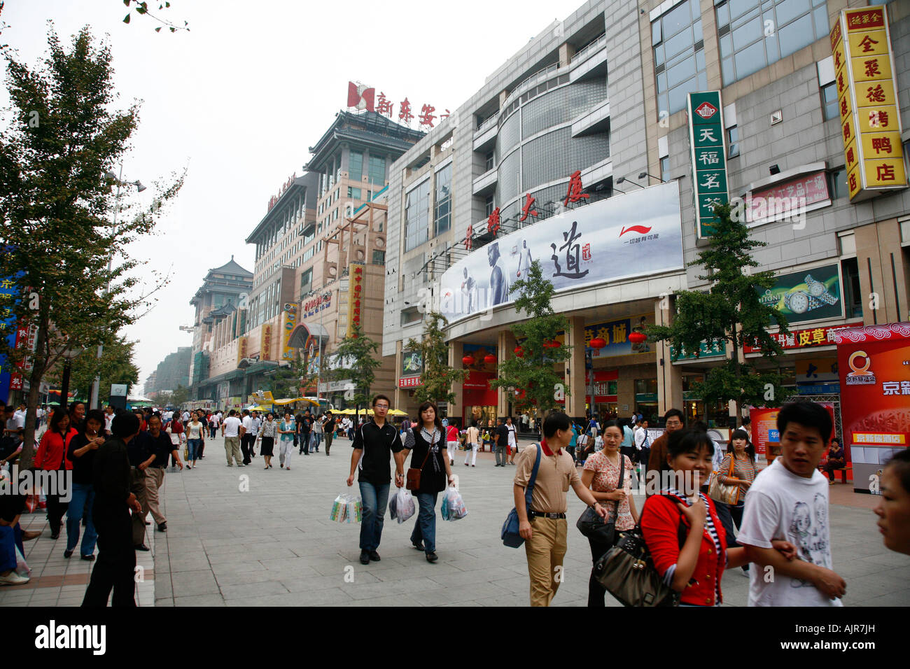
[[(253, 270), (255, 248), (244, 239), (268, 198), (301, 175), (307, 147), (346, 106), (349, 80), (383, 91), (396, 116), (405, 96), (417, 110), (429, 103), (454, 112), (577, 3), (173, 0), (158, 13), (149, 2), (153, 13), (189, 22), (190, 32), (171, 34), (135, 13), (124, 24), (122, 0), (6, 0), (3, 41), (30, 66), (46, 54), (48, 19), (67, 48), (84, 25), (98, 39), (107, 35), (120, 107), (143, 101), (125, 180), (149, 184), (188, 167), (176, 203), (139, 254), (158, 270), (173, 266), (157, 307), (126, 332), (138, 341), (140, 384), (168, 353), (191, 345), (177, 328), (192, 324), (189, 299), (208, 269), (233, 254)], [(0, 106), (8, 103), (4, 86)], [(148, 205), (151, 193), (137, 197)]]

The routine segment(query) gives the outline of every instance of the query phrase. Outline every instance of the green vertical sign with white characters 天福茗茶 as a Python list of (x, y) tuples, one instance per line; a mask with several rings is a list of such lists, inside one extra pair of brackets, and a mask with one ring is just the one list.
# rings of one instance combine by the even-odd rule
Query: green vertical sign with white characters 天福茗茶
[(689, 142), (692, 146), (695, 230), (710, 237), (715, 204), (730, 201), (727, 190), (726, 137), (720, 91), (688, 95)]

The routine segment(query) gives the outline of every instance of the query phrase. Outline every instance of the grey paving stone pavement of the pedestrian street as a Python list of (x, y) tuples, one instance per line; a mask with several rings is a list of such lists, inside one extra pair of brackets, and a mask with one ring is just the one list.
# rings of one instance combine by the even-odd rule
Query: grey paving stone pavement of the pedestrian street
[[(336, 439), (329, 457), (323, 451), (324, 445), (308, 456), (295, 452), (290, 471), (265, 471), (259, 456), (249, 467), (228, 468), (217, 438), (206, 442), (197, 469), (168, 473), (162, 496), (168, 530), (156, 536), (156, 605), (528, 605), (524, 551), (499, 538), (512, 506), (512, 467), (494, 467), (490, 453), (465, 467), (458, 454), (452, 471), (469, 514), (442, 521), (438, 503), (440, 561), (427, 563), (410, 547), (413, 518), (399, 525), (387, 513), (382, 559), (364, 566), (359, 524), (329, 521), (332, 502), (347, 488), (350, 442)], [(570, 522), (583, 507), (570, 491)], [(844, 603), (910, 605), (910, 556), (885, 549), (872, 512), (833, 504), (831, 522), (834, 568), (847, 580)], [(553, 605), (586, 605), (591, 550), (573, 528), (564, 566)], [(744, 606), (748, 583), (740, 570), (727, 572), (724, 603)], [(619, 605), (609, 595), (607, 604)]]

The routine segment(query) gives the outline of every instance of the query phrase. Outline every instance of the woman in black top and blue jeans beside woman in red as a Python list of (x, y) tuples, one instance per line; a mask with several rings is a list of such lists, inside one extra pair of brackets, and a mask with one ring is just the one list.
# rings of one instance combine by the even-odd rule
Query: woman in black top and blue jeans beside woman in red
[(86, 533), (82, 537), (79, 553), (83, 560), (95, 560), (95, 544), (98, 535), (92, 522), (92, 506), (95, 503), (95, 488), (92, 486), (92, 464), (98, 447), (104, 437), (105, 414), (93, 409), (86, 413), (79, 433), (66, 448), (66, 457), (73, 463), (73, 496), (66, 511), (66, 551), (69, 558), (79, 542), (79, 525), (86, 519)]

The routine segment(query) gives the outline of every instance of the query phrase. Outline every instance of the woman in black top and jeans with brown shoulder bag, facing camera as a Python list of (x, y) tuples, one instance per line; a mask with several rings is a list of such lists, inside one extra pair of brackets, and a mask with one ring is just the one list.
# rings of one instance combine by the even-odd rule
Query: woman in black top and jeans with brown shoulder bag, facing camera
[(427, 553), (427, 562), (439, 560), (436, 554), (436, 500), (446, 489), (446, 481), (455, 481), (446, 451), (446, 435), (442, 421), (432, 402), (420, 405), (420, 424), (411, 426), (405, 435), (404, 447), (411, 451), (410, 466), (420, 468), (420, 489), (414, 492), (420, 504), (410, 542), (418, 551)]

